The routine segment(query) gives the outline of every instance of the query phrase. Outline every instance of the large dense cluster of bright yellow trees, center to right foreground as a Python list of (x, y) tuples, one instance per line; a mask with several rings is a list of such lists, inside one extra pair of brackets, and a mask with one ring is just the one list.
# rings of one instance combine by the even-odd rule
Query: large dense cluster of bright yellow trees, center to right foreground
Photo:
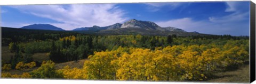
[(239, 64), (249, 55), (244, 48), (234, 46), (225, 50), (209, 45), (174, 45), (155, 50), (119, 47), (94, 52), (84, 68), (88, 79), (206, 80), (223, 62)]

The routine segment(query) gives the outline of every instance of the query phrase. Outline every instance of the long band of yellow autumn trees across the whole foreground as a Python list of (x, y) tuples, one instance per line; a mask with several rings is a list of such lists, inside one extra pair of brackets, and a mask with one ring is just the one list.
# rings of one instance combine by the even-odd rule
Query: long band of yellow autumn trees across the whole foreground
[(182, 81), (207, 80), (214, 72), (238, 67), (249, 61), (249, 40), (228, 40), (210, 44), (168, 45), (150, 48), (119, 46), (94, 52), (84, 67), (55, 69), (47, 61), (38, 69), (2, 77), (65, 78), (89, 80)]

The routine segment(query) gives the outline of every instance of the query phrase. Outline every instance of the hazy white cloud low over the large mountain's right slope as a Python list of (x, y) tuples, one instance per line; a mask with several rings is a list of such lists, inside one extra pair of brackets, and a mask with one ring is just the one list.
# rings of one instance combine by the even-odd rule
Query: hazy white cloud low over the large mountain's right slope
[(249, 35), (249, 23), (246, 22), (210, 22), (210, 21), (194, 21), (191, 18), (178, 18), (169, 21), (156, 22), (159, 26), (177, 27), (187, 32), (199, 32), (205, 34), (231, 34), (231, 35)]

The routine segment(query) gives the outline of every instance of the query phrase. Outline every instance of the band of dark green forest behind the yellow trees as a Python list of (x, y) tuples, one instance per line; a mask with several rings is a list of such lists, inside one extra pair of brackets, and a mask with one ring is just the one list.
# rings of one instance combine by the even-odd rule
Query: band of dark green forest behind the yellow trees
[[(56, 63), (87, 59), (95, 51), (116, 50), (119, 46), (147, 48), (155, 50), (157, 47), (166, 47), (173, 45), (203, 45), (209, 43), (226, 43), (229, 40), (244, 41), (245, 37), (223, 38), (218, 39), (202, 36), (180, 37), (176, 35), (169, 36), (143, 36), (143, 35), (70, 35), (58, 40), (52, 41), (33, 41), (26, 43), (9, 44), (9, 49), (14, 52), (10, 63), (12, 68), (20, 61), (25, 63), (33, 61), (34, 53), (48, 53), (50, 60)], [(224, 36), (225, 37), (225, 36)], [(228, 36), (229, 37), (229, 36)]]

